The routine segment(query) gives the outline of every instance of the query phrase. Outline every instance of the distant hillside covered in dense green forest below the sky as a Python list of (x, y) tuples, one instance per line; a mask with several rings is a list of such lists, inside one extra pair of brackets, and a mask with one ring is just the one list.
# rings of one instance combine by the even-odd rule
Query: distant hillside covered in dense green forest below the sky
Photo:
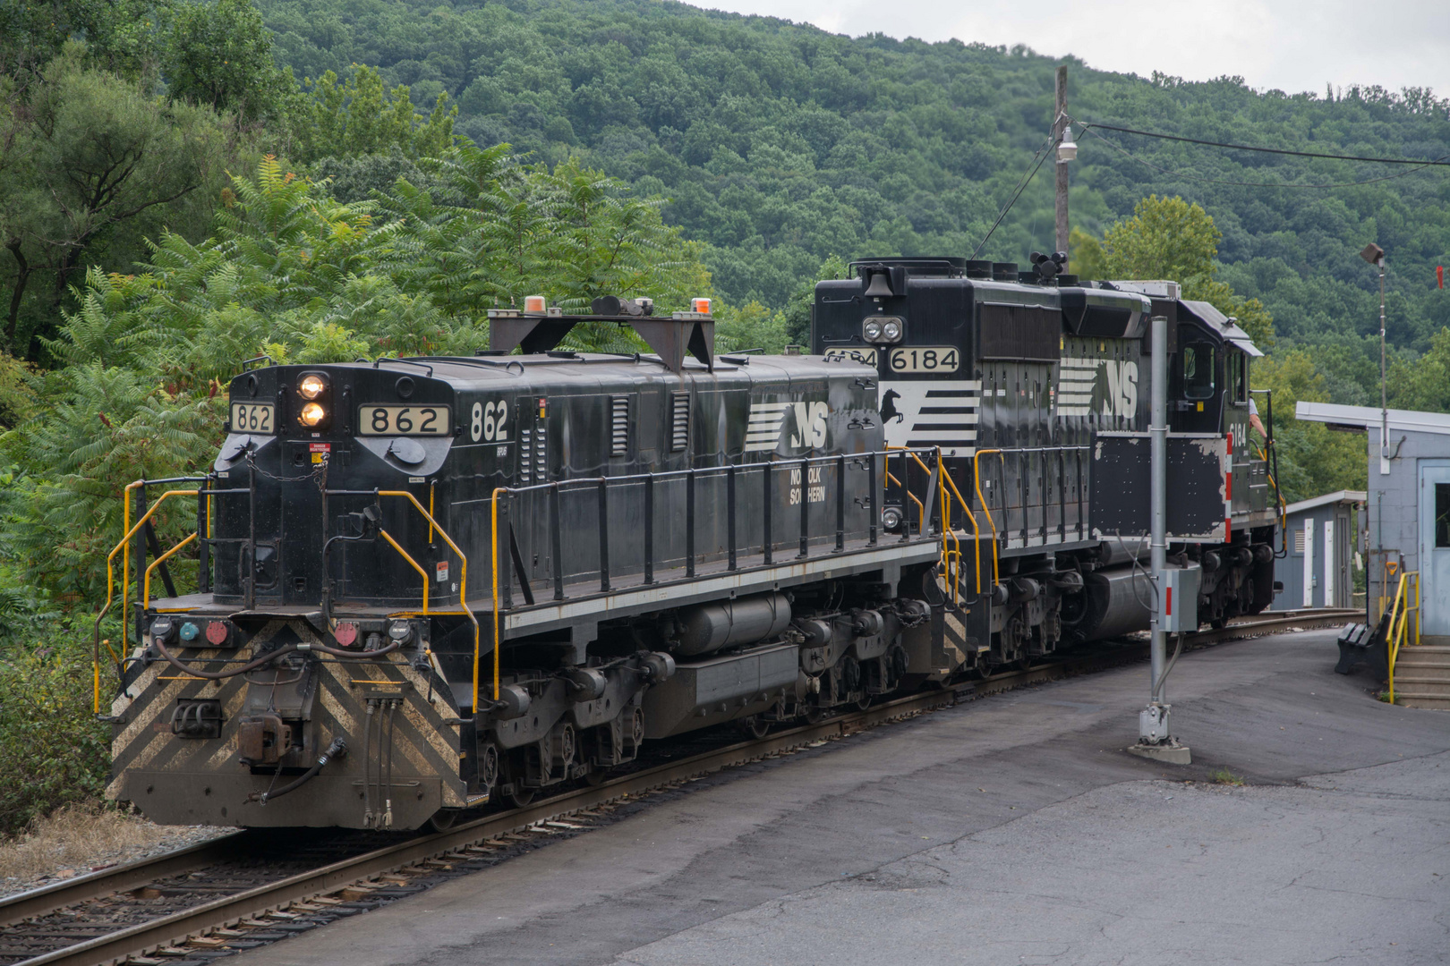
[[(377, 65), (419, 103), (447, 93), (455, 130), (478, 143), (580, 156), (668, 197), (666, 220), (708, 242), (715, 287), (737, 303), (783, 306), (828, 255), (970, 253), (1051, 120), (1054, 61), (1030, 36), (1011, 51), (850, 39), (651, 0), (260, 6), (299, 78)], [(1286, 96), (1074, 62), (1070, 113), (1204, 140), (1450, 155), (1450, 107), (1430, 91)], [(1364, 242), (1389, 252), (1395, 346), (1424, 350), (1450, 324), (1450, 300), (1434, 291), (1434, 266), (1450, 258), (1450, 168), (1406, 174), (1114, 132), (1079, 142), (1073, 224), (1098, 235), (1147, 194), (1201, 203), (1222, 232), (1224, 281), (1264, 301), (1280, 342), (1333, 343), (1317, 355), (1335, 398), (1378, 395), (1357, 345), (1378, 330)], [(982, 256), (1025, 261), (1051, 245), (1050, 175), (1038, 172)], [(1367, 184), (1330, 187), (1346, 182)], [(1260, 187), (1285, 184), (1308, 187)]]

